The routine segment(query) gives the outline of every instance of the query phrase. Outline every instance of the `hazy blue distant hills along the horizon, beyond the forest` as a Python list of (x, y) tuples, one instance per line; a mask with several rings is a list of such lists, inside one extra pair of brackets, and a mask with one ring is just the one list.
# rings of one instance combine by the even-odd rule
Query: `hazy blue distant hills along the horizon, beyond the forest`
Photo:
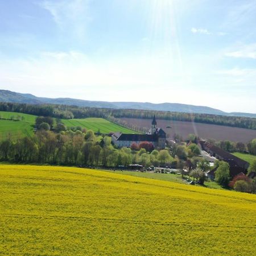
[(27, 104), (74, 105), (74, 106), (93, 107), (93, 108), (139, 109), (139, 110), (158, 110), (158, 111), (214, 114), (214, 115), (236, 115), (240, 117), (256, 118), (256, 114), (236, 113), (236, 112), (226, 113), (218, 109), (209, 108), (207, 106), (195, 106), (195, 105), (178, 104), (178, 103), (153, 104), (150, 102), (108, 102), (108, 101), (76, 100), (73, 98), (42, 98), (42, 97), (36, 97), (32, 94), (11, 92), (10, 90), (0, 90), (0, 101), (27, 103)]

